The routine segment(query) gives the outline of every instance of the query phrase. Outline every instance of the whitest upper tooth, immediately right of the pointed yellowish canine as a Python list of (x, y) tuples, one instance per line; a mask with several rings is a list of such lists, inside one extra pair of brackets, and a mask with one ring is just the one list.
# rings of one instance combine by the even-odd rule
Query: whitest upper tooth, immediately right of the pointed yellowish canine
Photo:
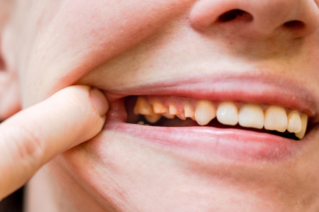
[(219, 104), (216, 112), (218, 122), (224, 125), (237, 125), (238, 109), (232, 102), (222, 102)]

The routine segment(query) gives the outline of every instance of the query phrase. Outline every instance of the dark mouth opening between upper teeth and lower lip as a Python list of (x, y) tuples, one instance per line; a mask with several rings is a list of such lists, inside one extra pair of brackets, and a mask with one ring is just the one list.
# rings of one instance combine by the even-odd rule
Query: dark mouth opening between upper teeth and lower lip
[[(156, 126), (156, 127), (194, 127), (198, 126), (201, 127), (200, 125), (197, 124), (194, 120), (191, 118), (187, 118), (186, 120), (181, 120), (178, 117), (175, 117), (174, 119), (168, 119), (165, 117), (162, 117), (159, 119), (156, 123), (149, 123), (144, 115), (136, 115), (133, 113), (134, 106), (136, 104), (137, 96), (128, 96), (125, 97), (125, 108), (127, 112), (127, 121), (126, 123), (129, 124), (137, 124), (138, 122), (143, 122), (145, 125), (149, 126)], [(221, 129), (240, 129), (240, 130), (247, 130), (247, 131), (254, 131), (254, 132), (261, 132), (261, 133), (269, 133), (273, 135), (278, 135), (284, 138), (289, 138), (293, 140), (300, 140), (295, 133), (290, 133), (288, 131), (285, 131), (283, 133), (278, 132), (278, 131), (270, 131), (270, 130), (265, 130), (265, 129), (255, 129), (255, 128), (246, 128), (242, 127), (240, 125), (235, 125), (235, 126), (228, 126), (228, 125), (223, 125), (218, 122), (216, 118), (211, 120), (207, 125), (208, 127), (214, 127), (214, 128), (221, 128)], [(310, 128), (310, 126), (308, 126)]]

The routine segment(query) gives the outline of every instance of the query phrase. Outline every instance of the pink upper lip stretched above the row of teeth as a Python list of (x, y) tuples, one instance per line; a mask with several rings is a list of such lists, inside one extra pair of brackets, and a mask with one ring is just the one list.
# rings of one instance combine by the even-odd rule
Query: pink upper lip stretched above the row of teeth
[(276, 75), (249, 72), (211, 77), (172, 79), (144, 83), (122, 90), (108, 90), (110, 103), (125, 96), (182, 96), (199, 100), (238, 101), (279, 105), (306, 113), (313, 123), (319, 122), (319, 98), (298, 80)]

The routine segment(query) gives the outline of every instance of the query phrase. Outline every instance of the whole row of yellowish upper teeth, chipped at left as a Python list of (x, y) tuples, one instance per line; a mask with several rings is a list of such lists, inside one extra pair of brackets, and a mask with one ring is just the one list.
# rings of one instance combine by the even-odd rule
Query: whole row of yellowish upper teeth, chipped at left
[(190, 117), (202, 126), (217, 117), (217, 120), (224, 125), (239, 124), (242, 127), (264, 128), (279, 132), (287, 130), (295, 133), (300, 139), (304, 137), (308, 123), (306, 114), (288, 110), (287, 115), (286, 109), (277, 105), (271, 105), (264, 110), (261, 105), (250, 103), (236, 106), (233, 102), (217, 104), (207, 100), (184, 100), (178, 105), (176, 100), (169, 101), (163, 103), (156, 98), (147, 101), (145, 97), (138, 97), (134, 113), (144, 115), (149, 123), (157, 122), (162, 116), (171, 119), (176, 115), (182, 120)]

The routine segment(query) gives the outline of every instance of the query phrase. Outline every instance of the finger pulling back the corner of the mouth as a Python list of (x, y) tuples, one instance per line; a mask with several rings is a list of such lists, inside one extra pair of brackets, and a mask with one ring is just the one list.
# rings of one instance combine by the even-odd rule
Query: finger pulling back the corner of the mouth
[(0, 125), (0, 200), (54, 156), (98, 134), (109, 109), (97, 89), (64, 88)]

